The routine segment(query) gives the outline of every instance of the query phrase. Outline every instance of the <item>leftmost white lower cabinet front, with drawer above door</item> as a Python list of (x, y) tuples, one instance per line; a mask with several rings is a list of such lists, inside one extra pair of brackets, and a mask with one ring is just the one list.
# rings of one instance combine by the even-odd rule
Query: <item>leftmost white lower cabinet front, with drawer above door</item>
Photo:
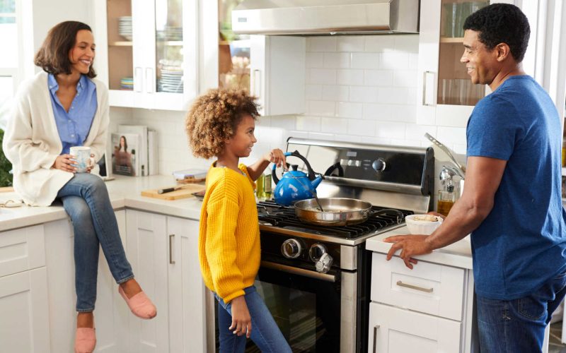
[(50, 352), (42, 225), (0, 233), (0, 352)]

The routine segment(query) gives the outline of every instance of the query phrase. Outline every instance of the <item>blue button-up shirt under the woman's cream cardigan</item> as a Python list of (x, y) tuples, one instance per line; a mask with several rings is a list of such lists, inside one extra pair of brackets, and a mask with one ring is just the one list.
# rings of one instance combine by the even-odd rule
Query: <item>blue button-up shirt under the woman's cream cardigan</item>
[(91, 131), (94, 114), (96, 114), (98, 108), (96, 85), (86, 76), (81, 75), (79, 83), (76, 84), (76, 95), (71, 102), (69, 112), (64, 109), (59, 97), (57, 97), (59, 84), (51, 73), (47, 78), (47, 85), (49, 85), (51, 94), (55, 124), (57, 124), (59, 138), (61, 138), (63, 144), (61, 154), (67, 154), (69, 148), (83, 145), (88, 136), (88, 131)]

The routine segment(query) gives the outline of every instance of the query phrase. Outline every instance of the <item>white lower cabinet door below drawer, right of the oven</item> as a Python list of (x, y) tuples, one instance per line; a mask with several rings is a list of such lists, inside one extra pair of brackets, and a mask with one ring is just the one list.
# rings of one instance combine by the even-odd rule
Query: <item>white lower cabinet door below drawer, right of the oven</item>
[(460, 352), (458, 321), (369, 304), (368, 352)]

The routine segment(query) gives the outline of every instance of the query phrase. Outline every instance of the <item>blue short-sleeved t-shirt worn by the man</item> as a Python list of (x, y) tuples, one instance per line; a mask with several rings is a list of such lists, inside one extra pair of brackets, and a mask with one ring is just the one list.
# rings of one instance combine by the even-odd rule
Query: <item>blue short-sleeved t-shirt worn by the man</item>
[(566, 268), (560, 118), (530, 76), (511, 76), (473, 109), (468, 157), (507, 160), (493, 209), (472, 233), (475, 292), (526, 297)]

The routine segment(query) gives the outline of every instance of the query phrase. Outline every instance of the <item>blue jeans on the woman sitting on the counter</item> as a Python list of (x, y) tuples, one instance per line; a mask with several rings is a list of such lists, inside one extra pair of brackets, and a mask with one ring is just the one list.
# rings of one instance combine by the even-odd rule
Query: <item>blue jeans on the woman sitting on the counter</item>
[(122, 246), (108, 190), (100, 177), (76, 173), (59, 190), (57, 198), (61, 198), (73, 222), (76, 311), (90, 312), (96, 301), (99, 244), (117, 283), (134, 278), (134, 273)]

